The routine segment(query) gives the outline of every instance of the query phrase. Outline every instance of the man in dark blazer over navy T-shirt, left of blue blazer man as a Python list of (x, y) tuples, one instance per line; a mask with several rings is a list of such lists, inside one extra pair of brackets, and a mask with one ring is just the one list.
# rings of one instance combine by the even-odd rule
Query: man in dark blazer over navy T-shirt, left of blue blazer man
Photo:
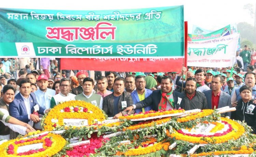
[[(133, 104), (131, 94), (124, 91), (125, 80), (122, 77), (117, 77), (113, 83), (114, 92), (103, 99), (103, 111), (108, 117), (114, 119), (127, 115), (128, 112), (123, 111), (126, 107)], [(131, 112), (133, 114), (134, 112)]]

